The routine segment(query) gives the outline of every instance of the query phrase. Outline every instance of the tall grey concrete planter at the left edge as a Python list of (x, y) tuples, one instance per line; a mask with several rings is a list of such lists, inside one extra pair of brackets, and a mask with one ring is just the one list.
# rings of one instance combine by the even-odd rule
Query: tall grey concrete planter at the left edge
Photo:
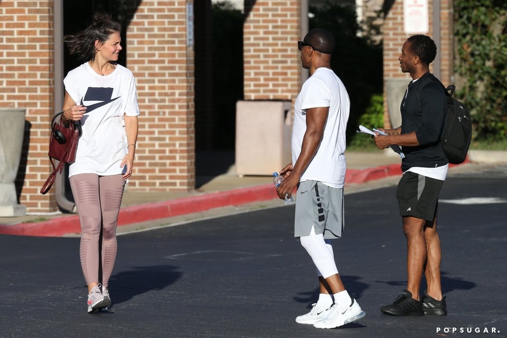
[(26, 214), (26, 207), (18, 204), (14, 180), (18, 174), (26, 109), (0, 108), (0, 217)]

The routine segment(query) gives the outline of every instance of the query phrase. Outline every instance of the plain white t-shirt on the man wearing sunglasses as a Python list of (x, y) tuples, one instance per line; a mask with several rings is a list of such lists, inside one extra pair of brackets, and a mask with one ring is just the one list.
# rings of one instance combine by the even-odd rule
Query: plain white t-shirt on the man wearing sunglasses
[(292, 161), (295, 164), (301, 153), (306, 131), (306, 109), (329, 107), (322, 141), (301, 181), (315, 180), (325, 185), (343, 188), (345, 181), (345, 130), (350, 100), (341, 80), (329, 68), (317, 68), (305, 81), (294, 104), (292, 132)]

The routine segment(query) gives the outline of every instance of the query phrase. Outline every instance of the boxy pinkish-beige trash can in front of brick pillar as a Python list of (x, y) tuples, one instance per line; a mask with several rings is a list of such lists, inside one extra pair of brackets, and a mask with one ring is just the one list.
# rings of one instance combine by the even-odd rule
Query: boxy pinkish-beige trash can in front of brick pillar
[(291, 101), (236, 103), (236, 174), (271, 175), (292, 160)]

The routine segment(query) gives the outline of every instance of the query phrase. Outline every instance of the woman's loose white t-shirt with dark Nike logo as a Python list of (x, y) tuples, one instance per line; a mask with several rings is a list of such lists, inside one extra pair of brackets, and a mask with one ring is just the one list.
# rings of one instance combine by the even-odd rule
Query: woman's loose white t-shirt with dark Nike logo
[(117, 64), (111, 74), (100, 76), (85, 62), (69, 71), (63, 84), (76, 104), (87, 106), (81, 120), (83, 134), (76, 162), (69, 167), (69, 177), (83, 173), (101, 176), (124, 173), (120, 164), (128, 149), (123, 115), (139, 115), (132, 72)]

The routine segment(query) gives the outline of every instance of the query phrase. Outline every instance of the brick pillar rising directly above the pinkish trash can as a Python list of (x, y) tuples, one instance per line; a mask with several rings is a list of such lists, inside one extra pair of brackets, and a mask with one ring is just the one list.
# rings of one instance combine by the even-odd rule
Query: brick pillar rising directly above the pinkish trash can
[(293, 100), (300, 87), (300, 0), (245, 0), (244, 99)]

